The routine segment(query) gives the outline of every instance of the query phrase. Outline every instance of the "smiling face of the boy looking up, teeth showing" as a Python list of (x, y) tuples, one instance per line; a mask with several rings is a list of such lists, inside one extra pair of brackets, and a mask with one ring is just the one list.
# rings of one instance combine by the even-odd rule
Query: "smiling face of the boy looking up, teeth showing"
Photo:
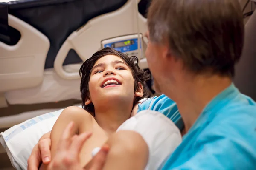
[[(101, 57), (93, 65), (89, 81), (90, 102), (94, 107), (117, 100), (133, 104), (134, 98), (143, 96), (143, 88), (134, 93), (131, 69), (115, 55)], [(88, 103), (89, 102), (89, 103)]]

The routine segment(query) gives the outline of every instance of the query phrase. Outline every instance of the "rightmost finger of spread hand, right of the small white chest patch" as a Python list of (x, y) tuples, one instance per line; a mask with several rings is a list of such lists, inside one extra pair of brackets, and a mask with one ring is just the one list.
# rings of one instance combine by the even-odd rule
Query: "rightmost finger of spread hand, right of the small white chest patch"
[(102, 170), (108, 155), (108, 151), (109, 151), (109, 146), (105, 144), (101, 148), (101, 150), (99, 150), (99, 152), (96, 154), (96, 156), (93, 157), (89, 170)]

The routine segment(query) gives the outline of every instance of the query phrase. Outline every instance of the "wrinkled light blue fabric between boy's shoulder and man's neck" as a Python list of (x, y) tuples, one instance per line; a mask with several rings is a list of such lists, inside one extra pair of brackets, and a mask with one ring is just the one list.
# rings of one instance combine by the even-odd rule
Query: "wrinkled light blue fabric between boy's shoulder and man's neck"
[(146, 99), (138, 105), (137, 113), (143, 110), (153, 110), (163, 113), (171, 119), (180, 130), (183, 130), (184, 124), (181, 119), (176, 103), (165, 95)]

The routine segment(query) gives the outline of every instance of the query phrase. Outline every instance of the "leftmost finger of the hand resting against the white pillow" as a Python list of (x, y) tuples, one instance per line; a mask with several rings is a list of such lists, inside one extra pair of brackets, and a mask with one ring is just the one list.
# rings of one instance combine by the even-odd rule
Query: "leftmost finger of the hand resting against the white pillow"
[(38, 170), (41, 162), (42, 160), (39, 154), (38, 144), (36, 144), (31, 152), (31, 155), (29, 156), (27, 170)]

